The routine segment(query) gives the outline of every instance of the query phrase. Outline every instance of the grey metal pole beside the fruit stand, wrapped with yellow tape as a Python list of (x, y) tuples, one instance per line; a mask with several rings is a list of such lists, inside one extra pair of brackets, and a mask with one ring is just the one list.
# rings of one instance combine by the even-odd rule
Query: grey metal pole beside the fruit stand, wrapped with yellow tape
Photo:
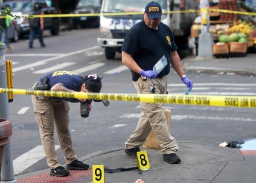
[[(212, 57), (212, 34), (209, 32), (209, 1), (200, 0), (200, 8), (207, 9), (201, 11), (201, 34), (198, 41), (198, 57)], [(205, 21), (204, 21), (205, 20)]]

